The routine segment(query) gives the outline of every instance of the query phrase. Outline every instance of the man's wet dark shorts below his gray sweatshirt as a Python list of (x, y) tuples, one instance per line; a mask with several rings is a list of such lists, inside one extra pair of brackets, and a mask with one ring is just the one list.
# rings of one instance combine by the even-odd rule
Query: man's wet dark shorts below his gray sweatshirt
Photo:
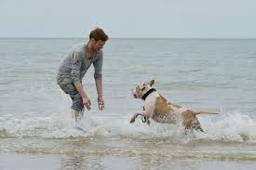
[(65, 79), (61, 82), (58, 82), (58, 85), (60, 85), (61, 90), (63, 90), (66, 94), (69, 94), (70, 98), (73, 101), (72, 109), (74, 111), (84, 111), (84, 104), (83, 104), (83, 98), (80, 96), (78, 91), (76, 90), (73, 83), (70, 83), (68, 81), (65, 81)]

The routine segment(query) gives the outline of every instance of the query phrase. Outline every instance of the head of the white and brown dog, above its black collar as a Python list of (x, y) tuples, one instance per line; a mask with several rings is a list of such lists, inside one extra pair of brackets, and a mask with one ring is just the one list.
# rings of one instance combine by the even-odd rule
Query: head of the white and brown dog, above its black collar
[(155, 80), (150, 82), (145, 82), (142, 85), (136, 85), (134, 89), (131, 90), (131, 93), (134, 98), (142, 98), (155, 84)]

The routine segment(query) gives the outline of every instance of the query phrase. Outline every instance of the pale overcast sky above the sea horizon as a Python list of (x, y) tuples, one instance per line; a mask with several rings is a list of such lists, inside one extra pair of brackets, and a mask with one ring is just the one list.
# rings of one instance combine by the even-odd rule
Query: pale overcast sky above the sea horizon
[(0, 0), (0, 37), (256, 38), (256, 0)]

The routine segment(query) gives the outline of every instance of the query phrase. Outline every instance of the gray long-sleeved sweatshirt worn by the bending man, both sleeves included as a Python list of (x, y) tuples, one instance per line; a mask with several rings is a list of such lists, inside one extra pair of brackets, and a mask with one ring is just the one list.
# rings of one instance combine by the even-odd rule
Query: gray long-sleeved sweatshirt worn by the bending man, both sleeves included
[(82, 79), (91, 63), (93, 63), (95, 69), (94, 78), (98, 79), (102, 77), (102, 51), (93, 54), (92, 58), (88, 59), (86, 46), (86, 44), (79, 44), (73, 46), (66, 52), (64, 58), (61, 60), (57, 74), (57, 82), (59, 85), (74, 84), (77, 80), (80, 80), (82, 83)]

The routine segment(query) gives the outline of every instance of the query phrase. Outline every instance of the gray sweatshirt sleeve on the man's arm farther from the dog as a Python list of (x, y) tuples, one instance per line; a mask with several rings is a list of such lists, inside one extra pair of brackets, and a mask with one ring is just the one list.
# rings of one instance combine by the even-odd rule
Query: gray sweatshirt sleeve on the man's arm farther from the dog
[(72, 65), (72, 71), (71, 71), (71, 79), (73, 82), (76, 82), (79, 80), (81, 66), (82, 66), (82, 53), (74, 52), (73, 65)]

